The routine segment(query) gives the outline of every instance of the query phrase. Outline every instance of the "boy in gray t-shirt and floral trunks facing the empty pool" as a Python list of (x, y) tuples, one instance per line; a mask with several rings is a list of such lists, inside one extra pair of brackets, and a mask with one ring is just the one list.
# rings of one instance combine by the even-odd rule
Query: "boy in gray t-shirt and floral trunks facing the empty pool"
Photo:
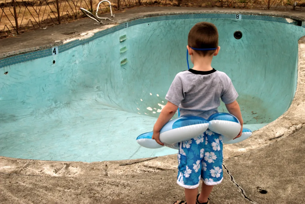
[[(230, 78), (211, 67), (213, 56), (220, 50), (215, 25), (197, 23), (188, 34), (187, 49), (194, 67), (176, 75), (165, 97), (168, 102), (154, 125), (152, 139), (164, 145), (159, 139), (160, 130), (174, 116), (178, 107), (181, 117), (199, 116), (207, 119), (218, 112), (220, 98), (229, 113), (239, 120), (241, 130), (236, 138), (240, 137), (243, 121), (236, 102), (238, 94)], [(223, 179), (222, 138), (207, 130), (179, 145), (177, 183), (185, 188), (186, 202), (176, 201), (174, 204), (208, 204), (213, 186), (220, 184)], [(197, 194), (200, 180), (203, 180), (202, 189)]]

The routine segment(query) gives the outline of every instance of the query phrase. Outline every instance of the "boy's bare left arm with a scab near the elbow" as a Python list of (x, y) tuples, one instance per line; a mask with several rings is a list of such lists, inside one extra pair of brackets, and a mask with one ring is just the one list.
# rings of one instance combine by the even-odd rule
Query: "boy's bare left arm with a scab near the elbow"
[(160, 130), (174, 116), (177, 110), (178, 110), (178, 106), (176, 106), (175, 104), (169, 101), (162, 109), (158, 117), (158, 120), (156, 121), (156, 124), (153, 127), (153, 134), (152, 134), (152, 139), (155, 139), (158, 144), (164, 145), (159, 139)]

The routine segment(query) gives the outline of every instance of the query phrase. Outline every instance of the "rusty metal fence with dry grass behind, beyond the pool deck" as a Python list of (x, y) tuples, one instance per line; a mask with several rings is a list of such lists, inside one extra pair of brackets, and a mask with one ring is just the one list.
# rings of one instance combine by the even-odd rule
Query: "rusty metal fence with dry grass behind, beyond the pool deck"
[[(108, 2), (100, 0), (0, 0), (0, 37), (26, 30), (60, 24), (84, 17), (80, 8), (91, 13), (109, 13)], [(252, 9), (303, 9), (305, 0), (109, 0), (113, 9), (139, 5), (225, 7)], [(99, 6), (99, 9), (97, 7)]]

